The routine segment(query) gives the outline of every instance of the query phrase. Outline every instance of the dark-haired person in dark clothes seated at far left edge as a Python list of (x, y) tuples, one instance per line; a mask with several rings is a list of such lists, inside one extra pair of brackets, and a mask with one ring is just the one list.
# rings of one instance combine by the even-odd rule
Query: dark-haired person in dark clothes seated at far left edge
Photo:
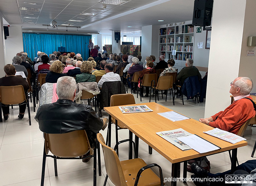
[[(15, 57), (19, 57), (19, 56), (15, 56)], [(24, 91), (27, 91), (29, 89), (28, 82), (24, 78), (15, 76), (16, 70), (14, 65), (12, 64), (5, 65), (4, 72), (6, 76), (3, 78), (0, 78), (0, 86), (22, 85), (24, 88)], [(25, 101), (23, 103), (25, 103)], [(19, 112), (18, 118), (22, 119), (24, 117), (26, 107), (27, 107), (27, 104), (19, 105), (20, 112)], [(7, 120), (9, 117), (9, 106), (4, 106), (4, 104), (2, 104), (2, 110), (3, 110), (4, 120)]]

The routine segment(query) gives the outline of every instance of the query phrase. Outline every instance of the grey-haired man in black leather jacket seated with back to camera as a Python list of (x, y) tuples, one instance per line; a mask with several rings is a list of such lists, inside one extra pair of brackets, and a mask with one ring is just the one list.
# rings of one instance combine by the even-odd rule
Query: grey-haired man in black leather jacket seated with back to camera
[[(44, 104), (36, 112), (35, 119), (39, 124), (39, 129), (49, 134), (63, 134), (75, 130), (85, 130), (89, 143), (93, 146), (96, 133), (107, 127), (108, 119), (100, 119), (90, 105), (74, 102), (76, 81), (72, 77), (59, 78), (56, 93), (59, 97), (57, 102)], [(92, 152), (90, 153), (89, 151), (84, 156), (90, 154)], [(83, 162), (89, 160), (90, 158), (87, 160), (83, 159)]]

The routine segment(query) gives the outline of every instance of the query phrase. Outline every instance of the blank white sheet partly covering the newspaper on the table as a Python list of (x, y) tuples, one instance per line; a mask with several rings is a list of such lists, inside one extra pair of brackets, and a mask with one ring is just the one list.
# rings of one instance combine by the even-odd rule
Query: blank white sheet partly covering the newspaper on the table
[(196, 136), (195, 134), (177, 139), (190, 146), (198, 153), (207, 153), (220, 149), (220, 147), (213, 145), (212, 143), (206, 141), (203, 138), (200, 138), (199, 136)]

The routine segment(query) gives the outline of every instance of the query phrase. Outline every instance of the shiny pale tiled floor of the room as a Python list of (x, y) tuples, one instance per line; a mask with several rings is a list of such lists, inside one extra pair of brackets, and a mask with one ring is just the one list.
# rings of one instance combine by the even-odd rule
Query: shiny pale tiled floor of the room
[[(195, 103), (193, 101), (185, 100), (185, 105), (182, 105), (181, 100), (175, 99), (175, 106), (172, 104), (168, 95), (167, 102), (159, 98), (158, 103), (165, 107), (178, 111), (188, 117), (198, 120), (204, 117), (204, 103)], [(140, 99), (135, 98), (136, 103), (140, 103)], [(143, 97), (142, 102), (148, 102), (149, 98)], [(33, 112), (32, 104), (30, 104), (32, 125), (28, 124), (28, 114), (26, 111), (25, 117), (18, 119), (18, 107), (10, 110), (10, 117), (7, 121), (0, 123), (0, 186), (13, 185), (13, 186), (36, 186), (40, 185), (41, 171), (42, 171), (42, 154), (44, 147), (44, 138), (42, 132), (38, 129)], [(108, 115), (103, 112), (103, 117)], [(114, 125), (112, 125), (114, 133)], [(252, 159), (251, 153), (255, 143), (256, 130), (252, 128), (253, 132), (250, 136), (245, 136), (248, 139), (248, 145), (238, 149), (238, 160), (240, 163)], [(107, 130), (100, 131), (104, 138), (106, 138)], [(119, 140), (128, 138), (128, 130), (118, 131)], [(115, 141), (115, 136), (112, 135), (112, 142)], [(140, 140), (139, 143), (139, 157), (146, 163), (159, 164), (164, 173), (165, 178), (171, 176), (171, 163), (162, 157), (159, 153), (153, 150), (153, 154), (148, 154), (148, 145)], [(112, 147), (115, 144), (112, 144)], [(256, 156), (256, 155), (255, 155)], [(120, 160), (128, 159), (128, 144), (123, 144), (119, 147)], [(211, 172), (217, 173), (230, 169), (230, 160), (228, 153), (220, 153), (209, 156), (211, 161)], [(106, 170), (103, 154), (101, 151), (101, 169), (102, 176), (97, 175), (97, 185), (103, 185)], [(88, 163), (83, 163), (81, 160), (57, 160), (58, 163), (58, 176), (54, 176), (53, 160), (47, 158), (45, 169), (45, 186), (79, 186), (79, 185), (92, 185), (93, 178), (93, 160)], [(181, 165), (181, 171), (183, 165)], [(156, 171), (157, 172), (157, 171)], [(182, 175), (182, 174), (181, 174)], [(190, 177), (188, 173), (188, 177)], [(193, 182), (188, 182), (188, 185), (194, 185)], [(113, 185), (108, 180), (107, 185)], [(166, 182), (170, 186), (170, 182)], [(183, 182), (178, 182), (178, 185), (185, 185)]]

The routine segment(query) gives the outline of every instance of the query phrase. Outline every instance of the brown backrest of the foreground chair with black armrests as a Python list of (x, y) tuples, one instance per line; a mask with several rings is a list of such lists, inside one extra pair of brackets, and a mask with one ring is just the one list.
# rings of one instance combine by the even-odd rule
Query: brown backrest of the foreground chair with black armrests
[(101, 144), (107, 175), (114, 185), (126, 186), (124, 172), (120, 160), (112, 148), (105, 144), (103, 136), (98, 133), (97, 139)]

